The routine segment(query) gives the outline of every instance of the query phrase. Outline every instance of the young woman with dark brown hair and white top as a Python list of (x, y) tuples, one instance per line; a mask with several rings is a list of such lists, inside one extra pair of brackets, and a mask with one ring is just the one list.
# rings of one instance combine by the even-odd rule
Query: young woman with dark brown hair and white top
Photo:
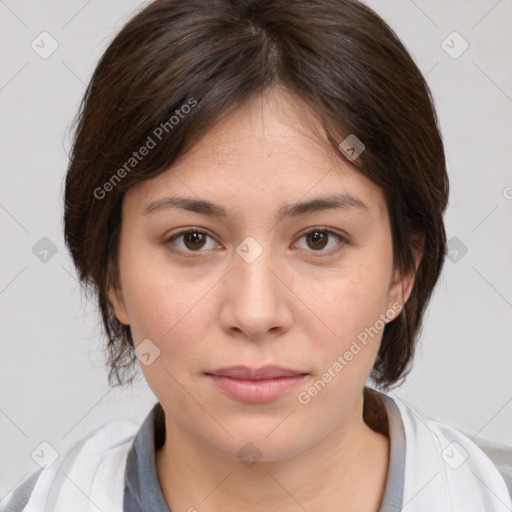
[(368, 7), (148, 5), (87, 89), (64, 221), (111, 384), (138, 359), (158, 403), (6, 510), (510, 510), (506, 467), (381, 392), (410, 368), (447, 201), (430, 91)]

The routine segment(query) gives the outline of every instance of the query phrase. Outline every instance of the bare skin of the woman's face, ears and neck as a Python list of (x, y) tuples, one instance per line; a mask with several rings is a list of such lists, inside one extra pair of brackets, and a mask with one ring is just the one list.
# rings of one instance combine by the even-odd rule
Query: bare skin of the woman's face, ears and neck
[[(375, 512), (381, 503), (389, 439), (362, 410), (382, 331), (307, 405), (297, 395), (380, 314), (403, 306), (413, 276), (394, 271), (382, 191), (317, 136), (306, 112), (282, 89), (254, 98), (124, 198), (120, 283), (108, 292), (135, 346), (150, 339), (160, 350), (141, 368), (165, 411), (156, 468), (173, 511)], [(275, 218), (284, 204), (335, 192), (367, 210)], [(228, 217), (144, 214), (170, 195), (215, 202)], [(186, 236), (166, 242), (178, 228), (210, 236), (202, 246)], [(304, 236), (310, 228), (334, 231), (326, 247)], [(248, 236), (263, 250), (252, 263), (236, 252)], [(264, 404), (229, 398), (205, 375), (267, 364), (308, 375)], [(252, 467), (236, 455), (248, 442), (261, 454)]]

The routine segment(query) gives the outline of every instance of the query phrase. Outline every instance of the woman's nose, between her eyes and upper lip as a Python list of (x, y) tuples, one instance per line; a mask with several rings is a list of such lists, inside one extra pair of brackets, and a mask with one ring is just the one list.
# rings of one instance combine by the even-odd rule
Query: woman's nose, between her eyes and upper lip
[[(260, 254), (254, 260), (246, 256), (243, 246), (233, 255), (233, 268), (225, 277), (221, 312), (224, 329), (243, 333), (250, 340), (275, 338), (293, 323), (293, 279), (271, 248), (259, 245)], [(249, 247), (250, 251), (257, 249)]]

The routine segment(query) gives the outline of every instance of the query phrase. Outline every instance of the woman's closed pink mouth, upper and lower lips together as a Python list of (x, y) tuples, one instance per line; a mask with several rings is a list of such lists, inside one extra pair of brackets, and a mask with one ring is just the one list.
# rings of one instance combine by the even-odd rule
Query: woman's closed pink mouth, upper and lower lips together
[(231, 398), (247, 403), (265, 403), (288, 392), (307, 374), (280, 366), (230, 366), (206, 375)]

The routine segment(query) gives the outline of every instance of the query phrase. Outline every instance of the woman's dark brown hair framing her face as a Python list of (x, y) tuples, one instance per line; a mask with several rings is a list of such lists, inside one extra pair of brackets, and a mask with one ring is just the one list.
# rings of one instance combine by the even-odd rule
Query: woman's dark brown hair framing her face
[[(111, 385), (131, 382), (136, 360), (130, 328), (106, 293), (119, 280), (125, 192), (168, 170), (222, 116), (276, 85), (315, 111), (334, 148), (350, 134), (364, 143), (349, 160), (385, 195), (395, 269), (414, 272), (421, 251), (411, 296), (386, 325), (371, 376), (389, 388), (410, 370), (444, 261), (448, 178), (430, 90), (403, 44), (355, 0), (157, 0), (98, 63), (65, 183), (65, 240), (98, 301)], [(150, 151), (136, 158), (143, 146)]]

